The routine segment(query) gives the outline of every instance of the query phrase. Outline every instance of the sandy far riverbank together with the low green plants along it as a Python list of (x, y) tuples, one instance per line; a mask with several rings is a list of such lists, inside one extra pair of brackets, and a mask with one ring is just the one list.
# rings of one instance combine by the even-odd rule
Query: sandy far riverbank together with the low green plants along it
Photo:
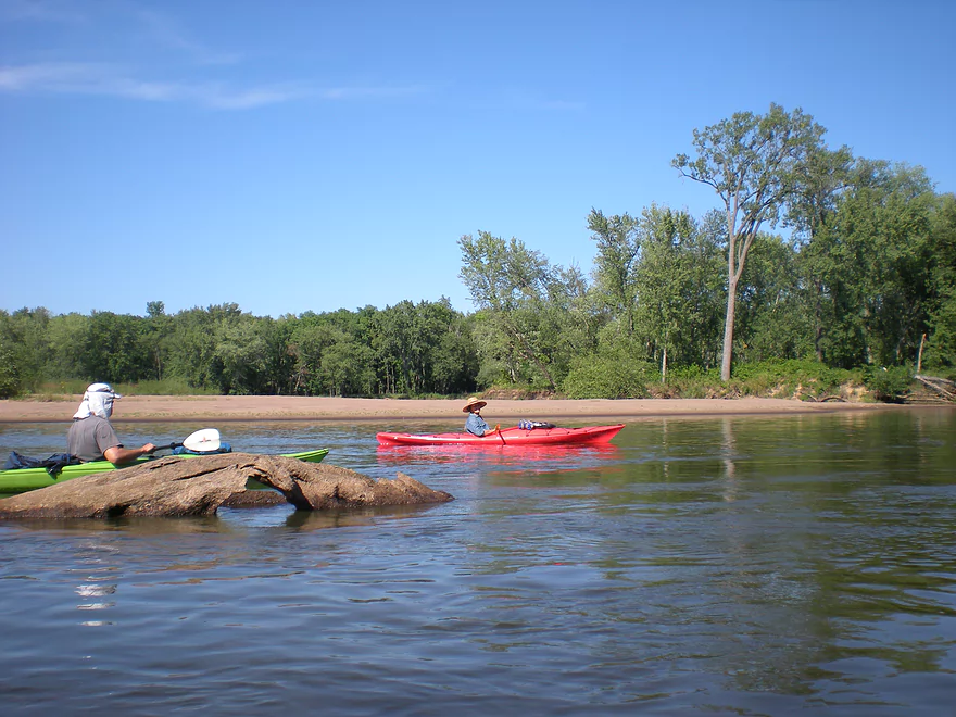
[[(582, 398), (530, 388), (495, 387), (474, 392), (489, 403), (494, 422), (832, 413), (909, 405), (956, 405), (956, 385), (903, 368), (846, 372), (780, 362), (741, 367), (721, 382), (701, 375), (690, 380), (649, 381), (638, 397)], [(855, 379), (855, 380), (854, 380)], [(944, 383), (944, 386), (938, 385)], [(114, 383), (122, 422), (375, 422), (463, 420), (463, 395), (316, 397), (224, 395), (191, 392), (181, 381)], [(0, 400), (0, 424), (68, 422), (86, 383), (46, 382), (35, 393)]]

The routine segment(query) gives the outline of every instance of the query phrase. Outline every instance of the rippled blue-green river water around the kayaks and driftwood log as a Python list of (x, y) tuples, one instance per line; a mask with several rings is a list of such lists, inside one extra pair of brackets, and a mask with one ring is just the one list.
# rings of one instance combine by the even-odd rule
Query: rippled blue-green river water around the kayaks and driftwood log
[[(456, 500), (0, 524), (4, 715), (953, 714), (951, 408), (643, 419), (606, 450), (218, 428)], [(0, 454), (64, 429), (0, 425)]]

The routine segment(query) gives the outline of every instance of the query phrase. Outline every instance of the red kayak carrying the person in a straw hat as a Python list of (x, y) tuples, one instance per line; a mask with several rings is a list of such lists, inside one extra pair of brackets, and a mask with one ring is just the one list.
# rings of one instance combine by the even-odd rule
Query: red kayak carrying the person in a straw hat
[(377, 433), (381, 445), (594, 445), (607, 443), (624, 428), (586, 426), (584, 428), (502, 428), (485, 436), (471, 433)]

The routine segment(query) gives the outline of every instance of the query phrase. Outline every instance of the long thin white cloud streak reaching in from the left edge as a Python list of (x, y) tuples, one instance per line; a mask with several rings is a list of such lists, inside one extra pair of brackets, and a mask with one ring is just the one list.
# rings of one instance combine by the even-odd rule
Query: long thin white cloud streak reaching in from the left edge
[(106, 64), (41, 63), (0, 66), (0, 92), (92, 95), (149, 102), (186, 102), (217, 110), (250, 110), (295, 100), (348, 101), (394, 98), (420, 87), (320, 88), (305, 83), (232, 87), (224, 83), (143, 80)]

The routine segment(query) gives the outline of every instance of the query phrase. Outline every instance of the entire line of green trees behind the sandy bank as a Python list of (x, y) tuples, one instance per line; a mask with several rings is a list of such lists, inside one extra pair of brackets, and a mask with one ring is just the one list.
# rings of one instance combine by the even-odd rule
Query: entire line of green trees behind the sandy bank
[[(678, 173), (712, 187), (703, 216), (651, 203), (587, 217), (589, 272), (517, 238), (458, 239), (476, 307), (252, 316), (236, 304), (167, 315), (0, 311), (0, 394), (65, 379), (178, 381), (218, 393), (458, 395), (521, 387), (646, 395), (760, 362), (956, 367), (956, 197), (924, 169), (823, 142), (771, 105), (695, 130)], [(775, 231), (775, 229), (782, 231)]]

